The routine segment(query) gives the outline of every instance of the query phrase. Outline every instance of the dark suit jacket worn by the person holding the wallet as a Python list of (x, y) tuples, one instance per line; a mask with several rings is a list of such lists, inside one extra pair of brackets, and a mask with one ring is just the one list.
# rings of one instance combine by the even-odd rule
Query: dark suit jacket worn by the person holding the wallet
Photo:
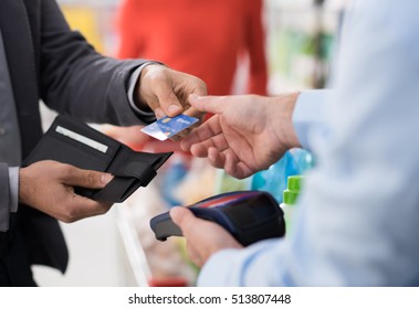
[[(132, 72), (144, 61), (123, 62), (97, 54), (80, 33), (70, 30), (54, 0), (1, 0), (0, 29), (23, 158), (42, 136), (40, 99), (61, 114), (86, 121), (142, 124), (129, 106), (127, 87)], [(67, 251), (57, 222), (24, 205), (12, 217), (8, 247), (9, 253), (19, 248), (15, 255), (24, 256), (24, 260), (13, 257), (11, 265), (7, 265), (18, 274), (14, 275), (17, 285), (27, 283), (19, 278), (25, 276), (20, 271), (24, 264), (50, 265), (61, 271), (67, 265)]]

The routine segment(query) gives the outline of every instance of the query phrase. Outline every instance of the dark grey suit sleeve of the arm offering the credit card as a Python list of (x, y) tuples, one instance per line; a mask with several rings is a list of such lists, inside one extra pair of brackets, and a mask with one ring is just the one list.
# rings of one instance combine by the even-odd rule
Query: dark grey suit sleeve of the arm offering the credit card
[(118, 61), (94, 51), (71, 31), (54, 0), (41, 1), (41, 97), (61, 114), (113, 125), (145, 124), (127, 93), (132, 73), (145, 61)]

